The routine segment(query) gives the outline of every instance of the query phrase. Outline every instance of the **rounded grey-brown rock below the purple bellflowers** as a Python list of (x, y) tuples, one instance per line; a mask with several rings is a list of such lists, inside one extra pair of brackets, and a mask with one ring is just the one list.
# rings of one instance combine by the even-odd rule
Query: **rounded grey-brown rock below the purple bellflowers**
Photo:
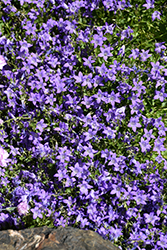
[(120, 250), (98, 233), (73, 227), (0, 231), (0, 250)]

